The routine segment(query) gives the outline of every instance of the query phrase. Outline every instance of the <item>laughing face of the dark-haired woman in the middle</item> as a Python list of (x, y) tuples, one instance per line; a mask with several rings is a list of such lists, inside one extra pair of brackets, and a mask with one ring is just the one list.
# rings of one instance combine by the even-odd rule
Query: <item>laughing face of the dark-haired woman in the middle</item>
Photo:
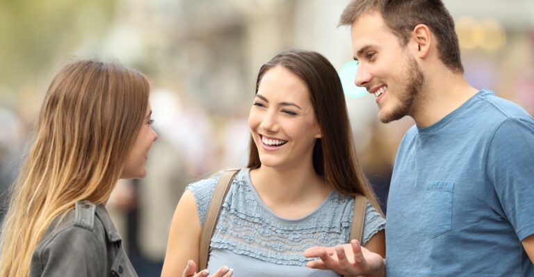
[(261, 78), (248, 124), (262, 166), (289, 168), (303, 160), (312, 165), (321, 131), (307, 85), (285, 67), (277, 65)]

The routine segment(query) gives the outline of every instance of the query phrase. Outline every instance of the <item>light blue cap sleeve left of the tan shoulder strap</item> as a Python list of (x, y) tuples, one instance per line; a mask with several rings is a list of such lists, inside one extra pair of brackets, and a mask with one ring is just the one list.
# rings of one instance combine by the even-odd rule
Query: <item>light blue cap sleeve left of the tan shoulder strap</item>
[(217, 182), (219, 181), (220, 175), (219, 172), (209, 178), (202, 179), (195, 183), (192, 183), (186, 187), (186, 190), (190, 190), (195, 196), (195, 202), (197, 203), (198, 217), (200, 218), (200, 225), (204, 225), (204, 219), (208, 212), (209, 202), (215, 191)]

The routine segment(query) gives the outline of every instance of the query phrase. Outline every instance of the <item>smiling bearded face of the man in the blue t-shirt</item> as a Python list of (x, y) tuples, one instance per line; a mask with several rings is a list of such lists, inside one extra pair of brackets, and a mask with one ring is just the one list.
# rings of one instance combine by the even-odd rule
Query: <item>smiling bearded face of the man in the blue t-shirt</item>
[(358, 17), (351, 26), (353, 53), (359, 61), (355, 84), (366, 87), (378, 104), (382, 122), (412, 115), (418, 108), (424, 75), (377, 11)]

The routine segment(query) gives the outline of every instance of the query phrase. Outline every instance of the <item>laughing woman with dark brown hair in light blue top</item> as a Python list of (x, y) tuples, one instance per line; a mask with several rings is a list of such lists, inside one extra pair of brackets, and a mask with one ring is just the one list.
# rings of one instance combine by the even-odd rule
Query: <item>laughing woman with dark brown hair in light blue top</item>
[[(275, 56), (259, 71), (248, 122), (248, 167), (234, 178), (211, 238), (213, 276), (339, 276), (306, 267), (304, 251), (348, 242), (356, 194), (369, 199), (362, 244), (385, 254), (385, 220), (358, 165), (330, 62), (311, 51)], [(179, 201), (162, 276), (207, 276), (195, 268), (219, 177), (189, 185)]]

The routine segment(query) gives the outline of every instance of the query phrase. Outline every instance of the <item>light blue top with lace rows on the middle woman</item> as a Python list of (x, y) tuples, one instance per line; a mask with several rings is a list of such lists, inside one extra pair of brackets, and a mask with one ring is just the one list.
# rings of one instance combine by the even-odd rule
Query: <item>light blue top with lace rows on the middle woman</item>
[[(204, 224), (209, 201), (220, 173), (188, 185)], [(284, 219), (261, 201), (250, 181), (250, 169), (241, 169), (223, 202), (210, 243), (208, 270), (223, 265), (234, 276), (338, 276), (333, 271), (309, 269), (305, 249), (348, 242), (354, 199), (332, 190), (316, 210), (299, 219)], [(363, 244), (385, 228), (383, 219), (368, 202)]]

